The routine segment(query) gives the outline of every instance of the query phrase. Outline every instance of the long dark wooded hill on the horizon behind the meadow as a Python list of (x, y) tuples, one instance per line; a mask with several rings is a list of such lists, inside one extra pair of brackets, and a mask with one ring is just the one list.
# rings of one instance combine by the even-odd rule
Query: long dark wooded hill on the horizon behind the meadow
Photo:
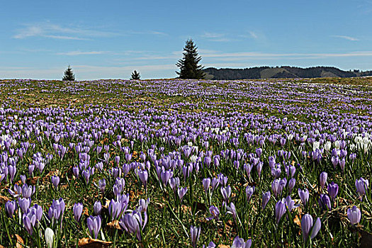
[(372, 76), (372, 71), (343, 71), (336, 67), (252, 67), (245, 69), (203, 69), (206, 79), (278, 79), (278, 78), (314, 78), (314, 77), (366, 77)]

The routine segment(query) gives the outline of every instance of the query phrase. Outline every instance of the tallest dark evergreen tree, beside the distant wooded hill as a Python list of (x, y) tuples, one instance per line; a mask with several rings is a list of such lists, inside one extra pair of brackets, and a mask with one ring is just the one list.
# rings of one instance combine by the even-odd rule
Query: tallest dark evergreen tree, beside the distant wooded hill
[(181, 70), (176, 72), (180, 79), (204, 79), (203, 66), (198, 64), (201, 57), (198, 55), (198, 47), (193, 40), (186, 40), (184, 47), (184, 58), (177, 62), (176, 66)]

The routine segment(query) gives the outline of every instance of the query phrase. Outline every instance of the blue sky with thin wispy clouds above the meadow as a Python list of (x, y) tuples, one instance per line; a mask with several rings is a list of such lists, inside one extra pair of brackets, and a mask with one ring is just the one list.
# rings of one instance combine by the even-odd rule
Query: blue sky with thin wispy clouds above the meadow
[(176, 77), (191, 38), (205, 68), (372, 70), (372, 0), (2, 1), (0, 79)]

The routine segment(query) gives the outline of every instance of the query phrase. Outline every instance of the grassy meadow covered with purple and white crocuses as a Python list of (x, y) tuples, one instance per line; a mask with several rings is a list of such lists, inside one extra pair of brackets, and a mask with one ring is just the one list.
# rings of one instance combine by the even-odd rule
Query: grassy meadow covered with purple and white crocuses
[(3, 247), (371, 247), (371, 174), (372, 79), (0, 81)]

